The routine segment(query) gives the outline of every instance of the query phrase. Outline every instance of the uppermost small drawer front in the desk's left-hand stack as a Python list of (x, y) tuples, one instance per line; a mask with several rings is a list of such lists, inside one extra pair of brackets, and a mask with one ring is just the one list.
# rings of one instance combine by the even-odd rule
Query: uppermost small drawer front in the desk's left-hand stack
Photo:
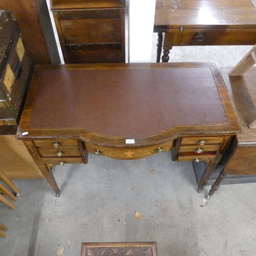
[(44, 148), (78, 148), (77, 140), (34, 140), (36, 147)]

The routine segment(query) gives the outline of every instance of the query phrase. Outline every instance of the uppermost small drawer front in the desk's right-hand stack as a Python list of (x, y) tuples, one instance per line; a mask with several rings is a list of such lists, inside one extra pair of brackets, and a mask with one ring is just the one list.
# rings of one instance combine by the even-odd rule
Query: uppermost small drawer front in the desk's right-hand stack
[(181, 145), (220, 144), (225, 136), (183, 137)]

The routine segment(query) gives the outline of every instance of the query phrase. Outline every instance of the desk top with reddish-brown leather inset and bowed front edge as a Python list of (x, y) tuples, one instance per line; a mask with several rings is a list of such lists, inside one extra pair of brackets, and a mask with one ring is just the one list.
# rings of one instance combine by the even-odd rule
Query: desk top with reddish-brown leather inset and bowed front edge
[(38, 65), (17, 138), (141, 145), (238, 131), (216, 62)]

